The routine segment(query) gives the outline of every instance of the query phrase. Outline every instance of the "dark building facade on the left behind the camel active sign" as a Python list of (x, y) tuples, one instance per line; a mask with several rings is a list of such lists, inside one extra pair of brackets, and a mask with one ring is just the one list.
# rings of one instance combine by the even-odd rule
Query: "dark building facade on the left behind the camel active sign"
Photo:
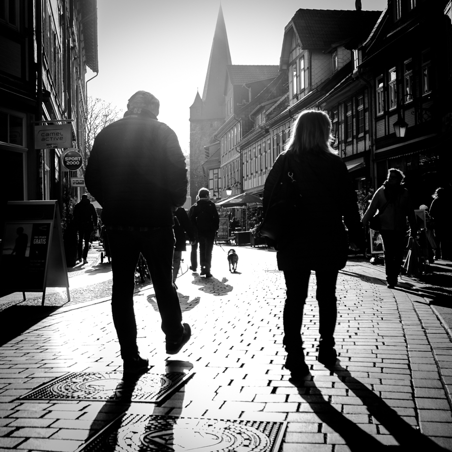
[(35, 149), (34, 126), (71, 124), (70, 147), (84, 154), (87, 67), (98, 72), (97, 0), (0, 2), (0, 224), (9, 200), (57, 199), (61, 208), (64, 149)]

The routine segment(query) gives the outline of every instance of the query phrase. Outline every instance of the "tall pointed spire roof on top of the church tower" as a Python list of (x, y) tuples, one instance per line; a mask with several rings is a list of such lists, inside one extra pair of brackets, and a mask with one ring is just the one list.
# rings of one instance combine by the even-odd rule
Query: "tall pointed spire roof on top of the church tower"
[[(221, 117), (219, 105), (224, 100), (224, 84), (226, 77), (226, 65), (232, 64), (227, 41), (225, 18), (220, 5), (218, 11), (217, 25), (212, 41), (209, 64), (205, 78), (202, 100), (206, 107), (206, 114), (210, 117)], [(224, 115), (224, 114), (223, 114)]]

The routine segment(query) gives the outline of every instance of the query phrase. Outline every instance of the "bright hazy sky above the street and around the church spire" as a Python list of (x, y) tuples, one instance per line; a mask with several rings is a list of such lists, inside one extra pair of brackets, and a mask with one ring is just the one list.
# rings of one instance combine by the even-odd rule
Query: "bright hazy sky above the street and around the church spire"
[[(279, 64), (284, 27), (299, 8), (355, 9), (355, 0), (222, 0), (232, 64)], [(383, 10), (387, 0), (362, 0)], [(124, 112), (143, 89), (189, 151), (190, 106), (202, 96), (220, 0), (97, 0), (99, 75), (88, 95)], [(88, 69), (86, 80), (94, 73)]]

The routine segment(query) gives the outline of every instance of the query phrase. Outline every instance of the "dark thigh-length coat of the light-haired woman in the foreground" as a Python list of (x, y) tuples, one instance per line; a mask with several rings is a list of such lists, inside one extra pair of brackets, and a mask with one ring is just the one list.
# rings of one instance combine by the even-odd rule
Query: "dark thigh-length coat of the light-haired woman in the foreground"
[[(284, 165), (286, 160), (288, 168)], [(291, 270), (301, 266), (317, 270), (345, 267), (348, 239), (344, 223), (350, 241), (362, 245), (364, 237), (356, 192), (347, 167), (332, 153), (305, 151), (295, 161), (293, 154), (282, 152), (265, 182), (264, 212), (275, 184), (278, 186), (273, 196), (277, 199), (286, 196), (288, 169), (293, 172), (302, 196), (286, 225), (287, 234), (278, 241), (278, 268)]]

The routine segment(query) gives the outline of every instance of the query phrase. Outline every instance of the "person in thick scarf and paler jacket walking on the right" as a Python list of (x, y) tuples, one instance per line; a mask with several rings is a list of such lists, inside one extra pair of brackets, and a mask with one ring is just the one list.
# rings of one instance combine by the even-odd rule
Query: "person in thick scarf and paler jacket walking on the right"
[(416, 237), (418, 231), (408, 190), (403, 187), (404, 178), (405, 175), (399, 169), (389, 169), (387, 179), (373, 195), (362, 220), (363, 225), (366, 226), (377, 210), (381, 211), (380, 235), (383, 241), (386, 282), (389, 288), (397, 285), (402, 268), (403, 251), (408, 243), (407, 218), (410, 224), (410, 236)]

